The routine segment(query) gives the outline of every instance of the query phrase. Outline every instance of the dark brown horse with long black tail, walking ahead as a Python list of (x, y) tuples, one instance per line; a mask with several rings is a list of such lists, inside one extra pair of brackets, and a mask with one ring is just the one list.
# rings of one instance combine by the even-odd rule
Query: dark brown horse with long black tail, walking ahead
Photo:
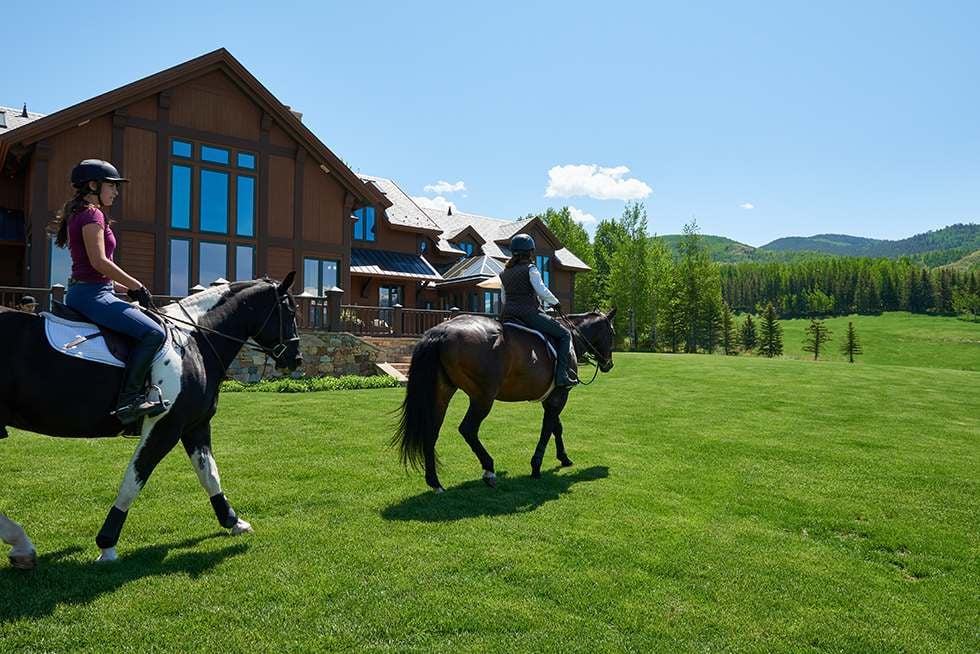
[[(596, 357), (599, 369), (613, 367), (613, 318), (592, 313), (567, 316), (573, 325), (575, 354)], [(541, 462), (551, 435), (555, 435), (558, 460), (572, 465), (565, 453), (559, 419), (568, 388), (555, 388), (555, 359), (540, 337), (514, 327), (504, 327), (483, 316), (458, 316), (427, 331), (412, 353), (408, 388), (401, 407), (398, 431), (392, 439), (402, 462), (425, 468), (425, 481), (437, 493), (443, 488), (436, 475), (436, 440), (446, 417), (449, 400), (457, 389), (470, 397), (470, 408), (459, 425), (459, 433), (483, 466), (483, 480), (496, 485), (493, 458), (480, 442), (480, 423), (490, 413), (494, 400), (502, 402), (541, 401), (544, 420), (541, 437), (531, 458), (531, 476), (541, 476)]]

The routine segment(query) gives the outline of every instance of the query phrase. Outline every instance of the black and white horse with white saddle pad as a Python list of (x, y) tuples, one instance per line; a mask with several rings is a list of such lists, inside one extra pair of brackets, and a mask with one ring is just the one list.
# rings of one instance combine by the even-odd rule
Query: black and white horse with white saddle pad
[[(139, 445), (96, 538), (100, 561), (116, 559), (127, 511), (177, 441), (221, 526), (232, 534), (252, 531), (221, 491), (211, 454), (211, 418), (225, 370), (249, 339), (273, 357), (278, 369), (295, 370), (302, 364), (296, 305), (289, 294), (294, 276), (289, 273), (281, 284), (259, 279), (215, 286), (162, 310), (178, 321), (178, 328), (153, 364), (151, 383), (169, 406), (143, 421)], [(44, 323), (38, 316), (0, 309), (0, 438), (7, 436), (7, 426), (67, 438), (119, 435), (123, 426), (110, 411), (122, 369), (56, 352), (48, 344)], [(27, 534), (3, 514), (0, 539), (12, 546), (9, 557), (15, 567), (36, 565)]]

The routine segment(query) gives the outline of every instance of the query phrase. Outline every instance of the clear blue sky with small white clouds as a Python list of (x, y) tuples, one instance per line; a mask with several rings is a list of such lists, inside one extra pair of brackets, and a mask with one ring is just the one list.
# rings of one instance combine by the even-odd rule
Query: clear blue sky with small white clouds
[(38, 6), (5, 7), (2, 105), (225, 47), (355, 171), (463, 211), (639, 199), (751, 245), (980, 222), (980, 2)]

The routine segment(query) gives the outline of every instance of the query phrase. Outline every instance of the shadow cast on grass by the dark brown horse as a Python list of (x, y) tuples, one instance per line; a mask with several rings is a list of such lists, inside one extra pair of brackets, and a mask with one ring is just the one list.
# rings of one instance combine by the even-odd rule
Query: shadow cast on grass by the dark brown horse
[(498, 473), (497, 487), (488, 488), (482, 479), (468, 481), (445, 493), (431, 490), (392, 504), (381, 512), (385, 520), (448, 522), (477, 516), (510, 515), (534, 511), (542, 504), (567, 493), (573, 484), (609, 476), (609, 468), (593, 466), (572, 474), (555, 474), (560, 468), (541, 472), (541, 479)]

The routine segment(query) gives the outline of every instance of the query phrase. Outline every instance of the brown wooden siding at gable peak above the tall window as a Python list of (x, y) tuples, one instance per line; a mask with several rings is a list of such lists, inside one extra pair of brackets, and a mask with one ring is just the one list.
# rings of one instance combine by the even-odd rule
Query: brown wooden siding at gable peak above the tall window
[(221, 71), (213, 71), (174, 88), (170, 121), (205, 132), (259, 140), (262, 112)]

